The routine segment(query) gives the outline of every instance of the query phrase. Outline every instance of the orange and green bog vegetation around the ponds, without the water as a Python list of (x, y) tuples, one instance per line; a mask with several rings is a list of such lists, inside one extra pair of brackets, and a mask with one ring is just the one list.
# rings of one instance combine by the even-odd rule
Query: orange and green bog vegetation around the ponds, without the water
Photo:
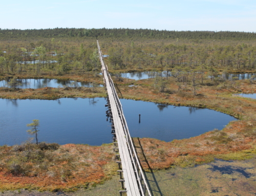
[[(114, 74), (120, 98), (207, 107), (239, 120), (223, 130), (162, 142), (134, 138), (145, 170), (191, 166), (255, 155), (256, 102), (236, 96), (256, 93), (256, 80), (226, 78), (225, 73), (256, 73), (256, 34), (245, 32), (158, 31), (143, 29), (0, 30), (1, 98), (105, 96), (103, 88), (19, 89), (15, 78), (56, 78), (103, 83), (96, 38)], [(121, 72), (148, 79), (120, 77)], [(171, 73), (172, 76), (160, 73)], [(134, 86), (129, 86), (133, 84)], [(202, 122), (203, 123), (203, 122)], [(206, 130), (207, 131), (207, 130)], [(75, 189), (109, 178), (114, 166), (111, 146), (26, 142), (2, 146), (1, 189)], [(31, 180), (33, 179), (33, 180)], [(40, 181), (46, 179), (44, 181)], [(49, 182), (49, 183), (48, 183)], [(42, 188), (43, 187), (43, 188)]]

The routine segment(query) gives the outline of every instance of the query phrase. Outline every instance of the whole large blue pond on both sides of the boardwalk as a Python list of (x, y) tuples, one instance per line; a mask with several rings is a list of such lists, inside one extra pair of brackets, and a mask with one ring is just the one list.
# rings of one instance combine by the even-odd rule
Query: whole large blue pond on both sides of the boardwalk
[[(222, 129), (235, 118), (208, 109), (175, 107), (134, 100), (121, 100), (132, 137), (164, 141), (200, 135)], [(26, 124), (40, 121), (39, 141), (59, 144), (111, 143), (111, 127), (106, 122), (104, 98), (61, 98), (59, 100), (0, 99), (0, 145), (20, 144), (30, 135)], [(139, 123), (139, 114), (141, 122)]]

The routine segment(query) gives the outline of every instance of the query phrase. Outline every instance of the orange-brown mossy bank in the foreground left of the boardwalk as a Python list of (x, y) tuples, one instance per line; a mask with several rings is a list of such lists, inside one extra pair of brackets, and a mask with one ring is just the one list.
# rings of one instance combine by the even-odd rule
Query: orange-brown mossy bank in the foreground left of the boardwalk
[[(111, 178), (115, 169), (115, 166), (108, 166), (113, 164), (111, 145), (66, 144), (57, 150), (46, 151), (42, 160), (37, 158), (23, 162), (25, 151), (18, 152), (9, 146), (1, 147), (1, 190), (74, 190)], [(23, 168), (23, 172), (10, 172), (11, 159)]]

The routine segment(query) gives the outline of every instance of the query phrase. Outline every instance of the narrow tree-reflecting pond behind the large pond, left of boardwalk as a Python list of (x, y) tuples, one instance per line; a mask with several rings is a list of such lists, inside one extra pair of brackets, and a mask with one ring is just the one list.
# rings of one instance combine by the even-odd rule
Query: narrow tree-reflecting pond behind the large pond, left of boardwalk
[[(1, 80), (0, 87), (9, 87), (8, 81), (10, 80)], [(62, 88), (63, 86), (72, 86), (72, 87), (102, 87), (102, 84), (92, 84), (90, 82), (77, 82), (72, 80), (59, 80), (59, 79), (17, 79), (18, 86), (20, 89), (40, 89), (44, 87), (52, 88)]]

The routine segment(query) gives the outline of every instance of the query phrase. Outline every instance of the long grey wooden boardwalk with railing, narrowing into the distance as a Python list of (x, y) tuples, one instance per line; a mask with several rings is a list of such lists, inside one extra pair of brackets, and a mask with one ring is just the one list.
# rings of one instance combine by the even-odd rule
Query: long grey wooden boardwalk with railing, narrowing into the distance
[(151, 196), (150, 189), (148, 188), (126, 120), (123, 115), (121, 102), (117, 96), (114, 83), (108, 72), (108, 67), (104, 64), (103, 55), (100, 50), (98, 40), (97, 45), (102, 66), (101, 71), (108, 94), (108, 103), (106, 106), (108, 106), (109, 110), (106, 112), (106, 115), (110, 117), (112, 123), (112, 134), (114, 136), (113, 143), (115, 145), (114, 151), (119, 153), (116, 155), (116, 157), (120, 169), (118, 170), (120, 174), (119, 182), (121, 182), (123, 189), (119, 191), (120, 195), (122, 195), (122, 192), (126, 192), (126, 194), (129, 196)]

